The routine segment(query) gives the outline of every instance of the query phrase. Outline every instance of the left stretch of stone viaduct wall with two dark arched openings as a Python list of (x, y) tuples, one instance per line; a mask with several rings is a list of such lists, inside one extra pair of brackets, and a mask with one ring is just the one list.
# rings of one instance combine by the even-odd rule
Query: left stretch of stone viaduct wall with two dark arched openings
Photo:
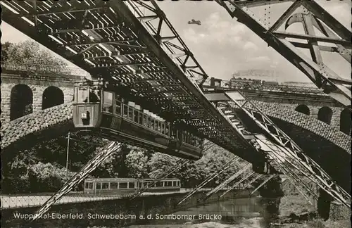
[(73, 83), (84, 79), (48, 69), (2, 65), (1, 122), (73, 101)]

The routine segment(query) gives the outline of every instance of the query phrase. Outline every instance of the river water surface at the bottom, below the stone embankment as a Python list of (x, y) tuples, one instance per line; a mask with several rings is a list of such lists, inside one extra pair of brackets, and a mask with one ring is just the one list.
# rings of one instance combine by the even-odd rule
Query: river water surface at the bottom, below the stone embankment
[[(173, 215), (192, 215), (191, 218), (168, 219), (159, 216), (144, 224), (130, 228), (193, 228), (193, 227), (233, 227), (233, 228), (267, 228), (279, 213), (279, 199), (236, 198), (223, 202), (201, 205), (197, 208), (173, 213)], [(193, 216), (194, 215), (194, 216)], [(199, 216), (201, 215), (201, 216)], [(213, 215), (210, 216), (209, 215)], [(216, 216), (214, 216), (216, 215)], [(220, 217), (221, 215), (221, 217)]]

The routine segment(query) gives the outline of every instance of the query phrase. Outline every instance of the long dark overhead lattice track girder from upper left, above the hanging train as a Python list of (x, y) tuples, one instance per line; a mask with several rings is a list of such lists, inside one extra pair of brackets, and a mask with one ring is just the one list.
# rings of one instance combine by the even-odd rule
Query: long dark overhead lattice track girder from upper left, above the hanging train
[[(6, 23), (87, 70), (92, 77), (103, 77), (123, 97), (145, 104), (146, 108), (165, 120), (183, 118), (182, 127), (228, 151), (237, 153), (238, 148), (243, 148), (239, 156), (249, 162), (261, 156), (253, 151), (251, 144), (239, 137), (239, 132), (231, 123), (204, 98), (197, 84), (187, 77), (191, 73), (170, 58), (170, 50), (167, 53), (163, 49), (163, 46), (171, 48), (175, 44), (173, 40), (169, 39), (167, 44), (157, 40), (153, 31), (147, 30), (150, 26), (142, 23), (156, 17), (161, 18), (161, 22), (167, 25), (166, 28), (172, 30), (171, 37), (176, 37), (180, 43), (180, 37), (155, 2), (152, 2), (152, 6), (144, 1), (92, 0), (0, 1), (0, 4), (4, 6), (2, 19)], [(154, 12), (154, 15), (136, 17), (134, 13), (138, 9), (134, 4)], [(136, 12), (132, 13), (132, 10)], [(73, 26), (77, 23), (82, 25), (79, 32)], [(165, 27), (159, 27), (157, 34), (162, 34), (164, 29)], [(182, 49), (188, 59), (194, 59), (183, 42), (176, 46), (175, 44), (172, 48)], [(198, 64), (195, 62), (184, 66), (192, 67), (193, 64)], [(101, 68), (96, 68), (97, 65)], [(199, 65), (198, 68), (199, 74), (203, 74)], [(159, 87), (168, 87), (170, 83), (178, 84), (182, 94), (169, 97), (168, 94), (158, 93), (152, 99), (147, 99), (150, 92), (155, 92)], [(196, 114), (192, 115), (192, 112)], [(194, 118), (210, 121), (203, 122), (203, 125), (192, 125)], [(201, 132), (200, 129), (207, 127), (208, 122), (216, 123), (215, 127)]]

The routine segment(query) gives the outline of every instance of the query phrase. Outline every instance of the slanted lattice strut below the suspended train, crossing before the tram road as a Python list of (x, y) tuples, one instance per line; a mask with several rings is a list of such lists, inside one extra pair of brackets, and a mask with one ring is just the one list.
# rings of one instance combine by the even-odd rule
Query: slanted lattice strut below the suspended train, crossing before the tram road
[(110, 157), (113, 153), (119, 153), (120, 147), (121, 144), (115, 141), (112, 141), (104, 146), (101, 151), (97, 153), (96, 156), (94, 156), (94, 158), (89, 160), (89, 162), (84, 165), (84, 167), (82, 167), (80, 172), (77, 172), (71, 179), (69, 179), (68, 182), (66, 182), (56, 194), (51, 196), (42, 205), (42, 207), (37, 210), (33, 216), (33, 220), (42, 217), (42, 215), (44, 215), (44, 213), (46, 213), (52, 205), (60, 201), (63, 196), (72, 191), (75, 186), (77, 186), (77, 184), (80, 184), (80, 182), (82, 182), (82, 180), (84, 180), (89, 175), (89, 173), (95, 170), (96, 167), (103, 163), (104, 160)]

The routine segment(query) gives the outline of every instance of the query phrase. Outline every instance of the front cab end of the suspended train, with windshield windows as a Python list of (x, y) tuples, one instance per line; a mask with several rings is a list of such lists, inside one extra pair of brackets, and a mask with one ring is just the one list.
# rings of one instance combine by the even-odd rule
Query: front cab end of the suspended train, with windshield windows
[(75, 84), (73, 102), (73, 124), (77, 128), (99, 127), (101, 122), (101, 101), (103, 84), (101, 81)]

